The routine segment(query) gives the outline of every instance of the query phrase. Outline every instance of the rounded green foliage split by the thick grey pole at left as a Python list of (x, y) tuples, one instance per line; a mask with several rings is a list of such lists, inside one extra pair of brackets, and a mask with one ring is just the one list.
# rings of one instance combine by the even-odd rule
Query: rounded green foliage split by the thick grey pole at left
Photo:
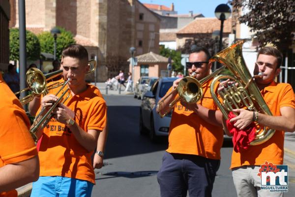
[[(30, 31), (26, 31), (26, 51), (27, 51), (27, 59), (31, 61), (35, 61), (40, 57), (40, 43), (38, 37), (31, 33)], [(10, 60), (19, 60), (19, 29), (13, 28), (10, 29), (9, 33), (9, 59)]]

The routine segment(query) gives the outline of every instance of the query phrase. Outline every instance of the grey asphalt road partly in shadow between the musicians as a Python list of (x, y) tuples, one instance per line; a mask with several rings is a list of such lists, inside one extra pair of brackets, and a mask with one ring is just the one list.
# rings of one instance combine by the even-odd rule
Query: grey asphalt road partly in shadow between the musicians
[[(105, 165), (95, 170), (96, 185), (92, 197), (160, 197), (156, 174), (168, 146), (167, 140), (153, 144), (148, 136), (139, 134), (141, 101), (134, 99), (133, 95), (104, 98), (108, 105), (109, 135)], [(222, 160), (214, 182), (213, 197), (236, 197), (229, 169), (231, 153), (232, 144), (226, 143), (221, 149)], [(289, 170), (289, 177), (294, 177), (294, 169)], [(295, 195), (294, 182), (289, 178), (289, 192), (285, 197)]]

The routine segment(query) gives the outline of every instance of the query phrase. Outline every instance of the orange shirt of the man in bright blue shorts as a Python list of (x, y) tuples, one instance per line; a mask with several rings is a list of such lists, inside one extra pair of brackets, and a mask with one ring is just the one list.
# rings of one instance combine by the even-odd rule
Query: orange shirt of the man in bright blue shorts
[[(106, 123), (106, 103), (97, 96), (97, 88), (87, 86), (83, 93), (70, 95), (64, 105), (75, 112), (74, 120), (84, 131), (102, 131)], [(55, 92), (53, 89), (49, 93)], [(44, 128), (40, 144), (40, 176), (63, 176), (95, 183), (92, 152), (81, 146), (64, 124), (52, 119)]]

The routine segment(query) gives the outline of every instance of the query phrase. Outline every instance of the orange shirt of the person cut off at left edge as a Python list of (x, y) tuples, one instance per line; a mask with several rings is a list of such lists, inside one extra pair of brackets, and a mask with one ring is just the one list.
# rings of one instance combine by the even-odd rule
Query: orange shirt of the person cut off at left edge
[[(29, 118), (0, 74), (0, 167), (28, 160), (38, 152), (29, 133)], [(16, 190), (0, 197), (17, 197)]]

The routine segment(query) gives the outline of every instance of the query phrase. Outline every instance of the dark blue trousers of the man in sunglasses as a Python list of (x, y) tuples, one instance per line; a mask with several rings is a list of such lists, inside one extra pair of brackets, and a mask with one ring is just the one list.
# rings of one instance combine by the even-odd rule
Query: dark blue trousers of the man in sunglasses
[(211, 197), (220, 160), (165, 152), (157, 174), (161, 197)]

